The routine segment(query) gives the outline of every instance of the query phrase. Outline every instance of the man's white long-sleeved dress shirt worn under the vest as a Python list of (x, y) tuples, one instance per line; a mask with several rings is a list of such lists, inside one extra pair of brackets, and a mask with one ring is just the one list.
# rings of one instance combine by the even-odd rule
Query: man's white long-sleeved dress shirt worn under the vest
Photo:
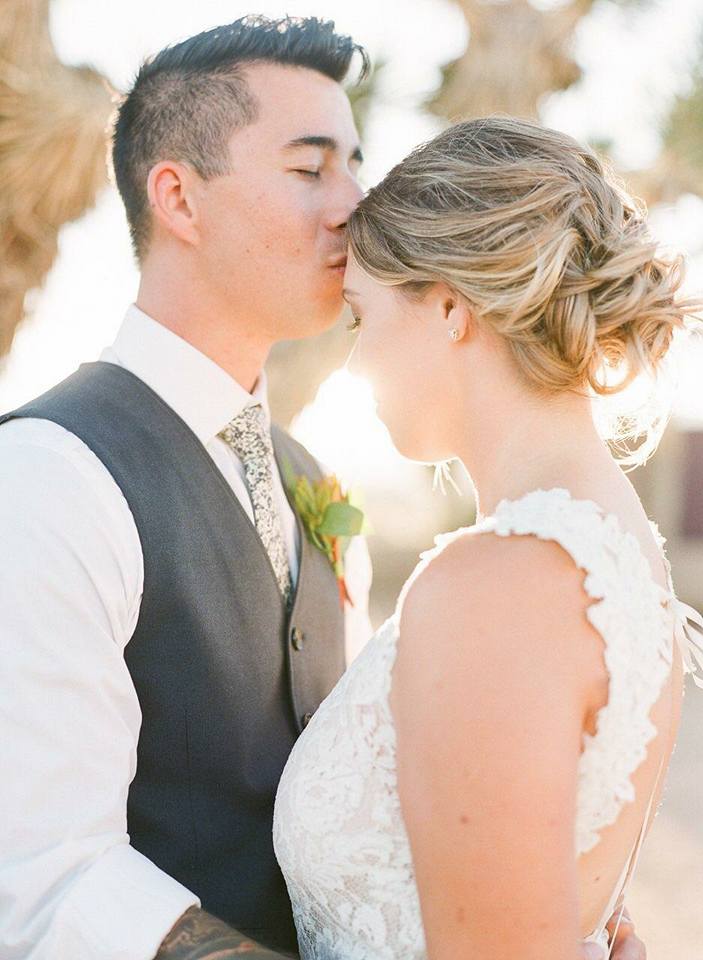
[[(217, 433), (253, 394), (132, 306), (101, 360), (126, 367), (188, 424), (253, 520), (236, 454)], [(291, 575), (297, 525), (274, 474)], [(141, 711), (124, 661), (143, 555), (122, 492), (58, 424), (0, 429), (0, 957), (150, 960), (198, 898), (129, 844)], [(347, 554), (347, 656), (370, 634), (362, 538)]]

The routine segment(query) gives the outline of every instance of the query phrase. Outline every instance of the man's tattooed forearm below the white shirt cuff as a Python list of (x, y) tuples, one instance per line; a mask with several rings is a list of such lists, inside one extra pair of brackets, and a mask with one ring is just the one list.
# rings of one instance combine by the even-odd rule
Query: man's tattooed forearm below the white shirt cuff
[(242, 954), (249, 960), (284, 960), (283, 954), (260, 946), (206, 910), (191, 907), (166, 936), (154, 960), (229, 960)]

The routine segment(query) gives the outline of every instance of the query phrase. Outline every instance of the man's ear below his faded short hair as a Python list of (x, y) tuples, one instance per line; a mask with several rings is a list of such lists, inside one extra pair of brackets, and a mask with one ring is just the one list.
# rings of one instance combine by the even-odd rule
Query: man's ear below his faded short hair
[(197, 174), (189, 166), (171, 160), (157, 163), (147, 178), (154, 226), (190, 244), (199, 239), (195, 178)]

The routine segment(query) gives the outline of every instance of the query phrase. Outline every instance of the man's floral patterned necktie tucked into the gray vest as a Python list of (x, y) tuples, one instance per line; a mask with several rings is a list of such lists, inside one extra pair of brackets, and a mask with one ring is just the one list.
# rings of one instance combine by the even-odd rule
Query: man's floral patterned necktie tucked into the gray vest
[(244, 478), (254, 508), (254, 525), (261, 537), (281, 593), (290, 606), (293, 583), (281, 518), (273, 493), (273, 443), (261, 404), (245, 407), (219, 434), (244, 465)]

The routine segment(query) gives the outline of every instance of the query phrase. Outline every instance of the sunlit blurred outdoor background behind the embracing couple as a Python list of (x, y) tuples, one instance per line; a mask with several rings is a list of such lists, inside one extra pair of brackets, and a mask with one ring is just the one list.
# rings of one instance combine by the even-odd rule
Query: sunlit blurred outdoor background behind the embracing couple
[[(450, 119), (538, 117), (610, 158), (703, 290), (703, 0), (0, 0), (0, 408), (111, 342), (137, 272), (108, 183), (105, 129), (140, 61), (247, 13), (334, 19), (375, 70), (351, 91), (371, 186)], [(344, 318), (346, 320), (348, 318)], [(470, 484), (433, 489), (347, 368), (344, 323), (269, 363), (276, 418), (363, 490), (375, 625), (435, 533), (471, 523)], [(673, 416), (632, 474), (668, 540), (679, 595), (703, 608), (703, 338), (675, 349)], [(0, 465), (0, 469), (2, 466)], [(630, 907), (650, 960), (703, 958), (703, 694), (682, 732)]]

